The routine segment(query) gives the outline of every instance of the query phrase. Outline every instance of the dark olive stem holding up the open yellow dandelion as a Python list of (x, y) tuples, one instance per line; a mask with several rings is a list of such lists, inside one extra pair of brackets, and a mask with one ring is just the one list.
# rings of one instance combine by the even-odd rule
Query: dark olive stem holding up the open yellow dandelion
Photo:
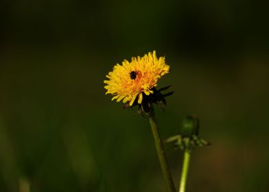
[(167, 158), (165, 156), (165, 150), (163, 148), (163, 141), (161, 140), (160, 132), (156, 125), (156, 119), (155, 119), (153, 108), (150, 110), (149, 117), (150, 117), (150, 126), (152, 128), (152, 134), (153, 134), (155, 145), (156, 145), (156, 151), (159, 157), (161, 169), (163, 171), (163, 176), (165, 178), (168, 192), (176, 192), (172, 175), (168, 167)]

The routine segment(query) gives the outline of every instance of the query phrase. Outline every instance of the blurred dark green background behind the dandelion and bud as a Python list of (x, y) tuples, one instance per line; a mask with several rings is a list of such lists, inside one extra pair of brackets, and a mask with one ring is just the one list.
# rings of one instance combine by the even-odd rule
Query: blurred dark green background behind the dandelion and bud
[(265, 3), (3, 0), (0, 22), (0, 191), (165, 191), (148, 120), (104, 95), (114, 64), (153, 50), (175, 91), (163, 139), (198, 115), (213, 143), (187, 191), (269, 191)]

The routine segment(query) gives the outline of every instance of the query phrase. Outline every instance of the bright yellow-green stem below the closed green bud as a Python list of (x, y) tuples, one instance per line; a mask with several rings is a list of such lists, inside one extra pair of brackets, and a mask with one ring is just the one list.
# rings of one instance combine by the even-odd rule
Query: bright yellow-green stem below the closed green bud
[(184, 152), (184, 160), (183, 160), (183, 168), (180, 178), (180, 185), (179, 185), (179, 192), (185, 192), (186, 182), (187, 182), (187, 175), (189, 171), (189, 160), (191, 158), (191, 151), (185, 149)]

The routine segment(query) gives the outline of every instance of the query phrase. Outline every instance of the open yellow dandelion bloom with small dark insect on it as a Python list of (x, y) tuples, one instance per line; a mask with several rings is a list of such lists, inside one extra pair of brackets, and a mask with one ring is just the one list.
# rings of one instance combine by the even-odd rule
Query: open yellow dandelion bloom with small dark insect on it
[(129, 106), (132, 106), (138, 98), (137, 103), (141, 104), (143, 93), (153, 93), (152, 88), (166, 73), (169, 73), (169, 65), (165, 64), (165, 58), (157, 58), (156, 51), (153, 51), (142, 58), (132, 58), (131, 62), (124, 60), (122, 65), (116, 64), (113, 71), (106, 75), (109, 80), (104, 80), (107, 84), (104, 88), (107, 89), (106, 94), (114, 96), (112, 100), (119, 102), (123, 99), (124, 103), (129, 102)]

